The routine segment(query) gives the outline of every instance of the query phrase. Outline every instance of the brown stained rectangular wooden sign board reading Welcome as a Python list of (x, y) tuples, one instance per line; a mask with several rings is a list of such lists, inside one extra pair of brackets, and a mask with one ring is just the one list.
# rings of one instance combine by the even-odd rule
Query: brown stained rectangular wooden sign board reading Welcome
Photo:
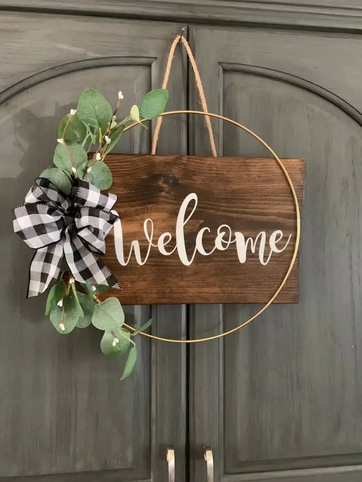
[[(282, 162), (301, 207), (304, 162)], [(122, 304), (271, 298), (296, 236), (291, 189), (274, 159), (115, 154), (107, 164), (121, 221), (103, 259)], [(296, 262), (276, 302), (297, 303), (298, 294)]]

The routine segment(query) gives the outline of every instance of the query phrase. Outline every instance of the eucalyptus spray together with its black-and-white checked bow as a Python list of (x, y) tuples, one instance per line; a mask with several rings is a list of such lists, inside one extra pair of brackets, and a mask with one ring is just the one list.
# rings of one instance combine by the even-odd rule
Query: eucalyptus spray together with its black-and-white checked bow
[(137, 359), (133, 337), (146, 330), (152, 320), (131, 332), (123, 326), (124, 312), (118, 298), (98, 298), (110, 286), (121, 287), (98, 259), (105, 253), (105, 237), (119, 219), (112, 210), (117, 196), (103, 192), (112, 186), (112, 172), (104, 160), (130, 121), (153, 119), (164, 111), (168, 91), (151, 90), (119, 121), (122, 99), (120, 91), (112, 110), (99, 90), (82, 92), (77, 109), (71, 109), (60, 121), (52, 164), (35, 179), (24, 204), (14, 209), (13, 226), (36, 250), (30, 263), (28, 297), (53, 284), (45, 314), (55, 329), (62, 335), (91, 324), (102, 330), (100, 348), (105, 355), (128, 352), (123, 379)]

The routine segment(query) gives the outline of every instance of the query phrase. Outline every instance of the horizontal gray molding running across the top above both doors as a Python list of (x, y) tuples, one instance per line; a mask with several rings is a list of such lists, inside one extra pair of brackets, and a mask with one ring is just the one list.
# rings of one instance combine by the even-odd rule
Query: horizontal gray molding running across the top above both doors
[[(362, 32), (362, 7), (305, 5), (289, 0), (0, 0), (0, 11), (61, 13), (219, 25)], [(182, 6), (182, 8), (180, 8)]]

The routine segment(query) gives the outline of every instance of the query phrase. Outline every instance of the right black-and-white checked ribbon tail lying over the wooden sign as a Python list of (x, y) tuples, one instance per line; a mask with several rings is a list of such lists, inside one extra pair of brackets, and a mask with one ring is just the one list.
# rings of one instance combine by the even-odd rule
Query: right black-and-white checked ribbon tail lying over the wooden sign
[(65, 231), (63, 249), (66, 262), (76, 281), (121, 288), (112, 271), (85, 246), (77, 233)]

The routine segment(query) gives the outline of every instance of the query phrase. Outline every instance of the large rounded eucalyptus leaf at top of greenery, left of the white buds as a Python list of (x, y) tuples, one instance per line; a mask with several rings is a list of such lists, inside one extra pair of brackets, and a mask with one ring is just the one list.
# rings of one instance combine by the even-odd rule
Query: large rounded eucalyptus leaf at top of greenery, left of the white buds
[(97, 89), (86, 89), (78, 101), (77, 114), (87, 126), (105, 127), (112, 120), (112, 107)]

